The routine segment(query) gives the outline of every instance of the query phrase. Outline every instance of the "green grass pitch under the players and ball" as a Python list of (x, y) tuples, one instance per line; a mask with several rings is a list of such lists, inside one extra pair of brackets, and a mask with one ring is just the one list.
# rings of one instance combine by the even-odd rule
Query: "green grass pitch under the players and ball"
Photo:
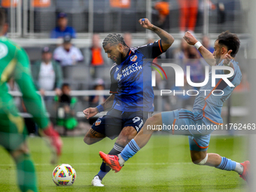
[[(49, 164), (49, 149), (42, 139), (29, 138), (40, 191), (244, 191), (246, 188), (245, 181), (236, 172), (191, 163), (187, 136), (169, 135), (152, 136), (148, 145), (120, 172), (105, 176), (102, 181), (105, 187), (93, 187), (90, 182), (102, 163), (99, 151), (108, 153), (114, 141), (103, 139), (88, 146), (82, 137), (62, 139), (64, 147), (59, 163), (69, 163), (77, 172), (75, 184), (70, 187), (57, 187), (53, 183), (51, 174), (56, 165)], [(209, 153), (243, 162), (245, 143), (246, 138), (242, 136), (212, 136)], [(3, 148), (0, 154), (0, 191), (19, 191), (13, 160)]]

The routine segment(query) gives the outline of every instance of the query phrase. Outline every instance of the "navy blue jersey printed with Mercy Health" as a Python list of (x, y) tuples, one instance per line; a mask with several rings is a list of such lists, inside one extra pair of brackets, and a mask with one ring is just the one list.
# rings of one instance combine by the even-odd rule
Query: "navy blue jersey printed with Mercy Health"
[(114, 94), (113, 108), (120, 111), (154, 111), (154, 92), (151, 86), (151, 59), (163, 53), (161, 40), (142, 47), (130, 48), (120, 65), (110, 70), (110, 93)]

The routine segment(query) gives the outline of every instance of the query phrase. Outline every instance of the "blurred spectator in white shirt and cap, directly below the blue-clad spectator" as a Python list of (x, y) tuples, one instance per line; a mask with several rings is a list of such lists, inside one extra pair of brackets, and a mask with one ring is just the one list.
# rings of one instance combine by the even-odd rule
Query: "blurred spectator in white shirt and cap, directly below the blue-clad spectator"
[(63, 38), (62, 46), (59, 46), (54, 50), (53, 58), (60, 62), (61, 66), (72, 66), (77, 62), (84, 60), (81, 50), (72, 45), (71, 41), (72, 37), (70, 35), (66, 35)]

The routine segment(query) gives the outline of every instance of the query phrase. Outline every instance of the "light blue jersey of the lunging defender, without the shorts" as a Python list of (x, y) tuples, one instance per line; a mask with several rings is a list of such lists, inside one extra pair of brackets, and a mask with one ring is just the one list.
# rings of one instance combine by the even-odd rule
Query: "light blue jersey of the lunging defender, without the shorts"
[[(224, 60), (218, 66), (223, 66), (223, 62)], [(229, 78), (229, 81), (236, 87), (241, 82), (242, 73), (239, 69), (238, 62), (234, 60), (231, 60), (231, 62), (233, 63), (234, 75)], [(224, 75), (224, 70), (216, 70), (215, 73), (216, 75)], [(235, 87), (228, 86), (223, 79), (216, 79), (216, 86), (212, 87), (212, 72), (209, 72), (209, 81), (205, 86), (200, 88), (200, 93), (196, 96), (192, 111), (203, 110), (203, 117), (206, 117), (212, 123), (223, 123), (221, 108)], [(212, 91), (214, 91), (214, 94), (212, 94)]]

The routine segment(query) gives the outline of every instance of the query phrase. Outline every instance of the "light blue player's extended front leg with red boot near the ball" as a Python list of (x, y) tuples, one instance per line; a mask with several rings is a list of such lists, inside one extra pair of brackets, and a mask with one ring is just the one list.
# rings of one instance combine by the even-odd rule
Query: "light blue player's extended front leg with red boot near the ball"
[(141, 148), (143, 148), (148, 140), (151, 138), (154, 131), (157, 130), (146, 130), (148, 125), (161, 125), (162, 116), (161, 114), (155, 114), (150, 117), (145, 125), (142, 127), (142, 130), (138, 135), (132, 139), (126, 146), (123, 148), (123, 151), (118, 155), (104, 154), (102, 151), (99, 152), (102, 160), (105, 161), (108, 166), (111, 167), (115, 172), (119, 172), (123, 166), (123, 163), (126, 160), (129, 160), (130, 157), (133, 157)]

